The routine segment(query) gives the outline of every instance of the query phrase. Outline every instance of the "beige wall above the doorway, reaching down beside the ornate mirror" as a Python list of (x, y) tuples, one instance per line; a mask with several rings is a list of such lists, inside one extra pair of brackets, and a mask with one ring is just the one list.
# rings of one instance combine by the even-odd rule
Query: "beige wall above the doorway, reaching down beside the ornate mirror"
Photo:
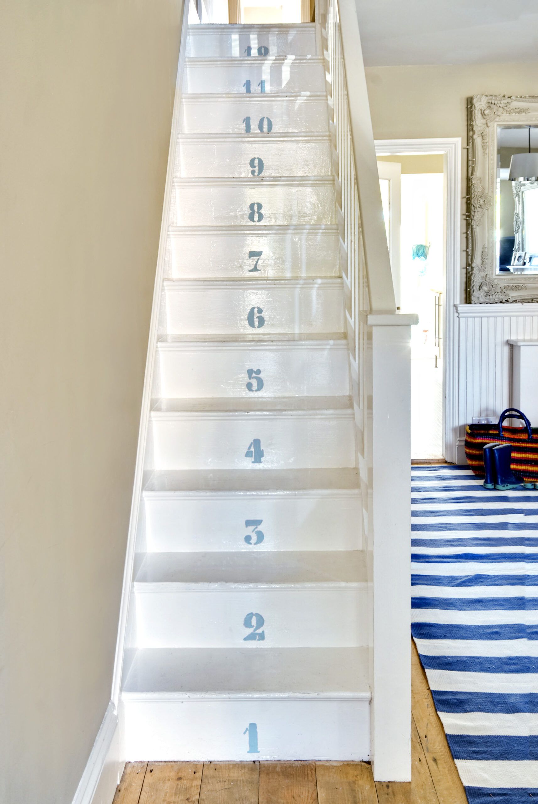
[[(462, 146), (467, 146), (468, 97), (481, 93), (538, 95), (538, 62), (371, 67), (367, 68), (366, 77), (373, 135), (380, 140), (462, 137)], [(467, 150), (463, 150), (463, 196), (467, 194), (466, 182)], [(464, 211), (462, 203), (462, 249), (466, 231)], [(465, 265), (464, 253), (462, 265)]]

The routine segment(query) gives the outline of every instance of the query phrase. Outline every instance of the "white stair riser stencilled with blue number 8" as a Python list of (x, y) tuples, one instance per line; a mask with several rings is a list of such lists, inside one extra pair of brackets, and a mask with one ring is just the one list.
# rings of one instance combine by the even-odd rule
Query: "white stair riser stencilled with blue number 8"
[[(336, 224), (332, 182), (175, 185), (177, 226), (290, 226)], [(261, 206), (260, 206), (261, 205)]]

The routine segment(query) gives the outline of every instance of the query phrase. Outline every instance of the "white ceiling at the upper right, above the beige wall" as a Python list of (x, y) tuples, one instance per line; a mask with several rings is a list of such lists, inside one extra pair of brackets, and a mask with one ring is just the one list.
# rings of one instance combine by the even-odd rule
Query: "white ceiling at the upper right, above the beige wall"
[(356, 0), (365, 64), (534, 61), (538, 0)]

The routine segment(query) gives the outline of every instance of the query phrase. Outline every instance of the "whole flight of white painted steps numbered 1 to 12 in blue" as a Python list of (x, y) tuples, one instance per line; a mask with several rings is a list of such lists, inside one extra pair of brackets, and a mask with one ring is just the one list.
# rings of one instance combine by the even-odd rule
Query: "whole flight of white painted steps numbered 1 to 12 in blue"
[(129, 761), (370, 757), (369, 479), (321, 41), (189, 27), (116, 662)]

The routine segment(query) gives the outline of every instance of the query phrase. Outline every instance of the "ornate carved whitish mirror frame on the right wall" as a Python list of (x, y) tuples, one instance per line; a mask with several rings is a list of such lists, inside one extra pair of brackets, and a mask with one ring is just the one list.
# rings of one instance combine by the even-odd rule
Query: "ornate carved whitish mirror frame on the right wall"
[(467, 112), (467, 301), (538, 301), (538, 273), (497, 273), (495, 248), (497, 128), (538, 124), (538, 96), (473, 95)]

